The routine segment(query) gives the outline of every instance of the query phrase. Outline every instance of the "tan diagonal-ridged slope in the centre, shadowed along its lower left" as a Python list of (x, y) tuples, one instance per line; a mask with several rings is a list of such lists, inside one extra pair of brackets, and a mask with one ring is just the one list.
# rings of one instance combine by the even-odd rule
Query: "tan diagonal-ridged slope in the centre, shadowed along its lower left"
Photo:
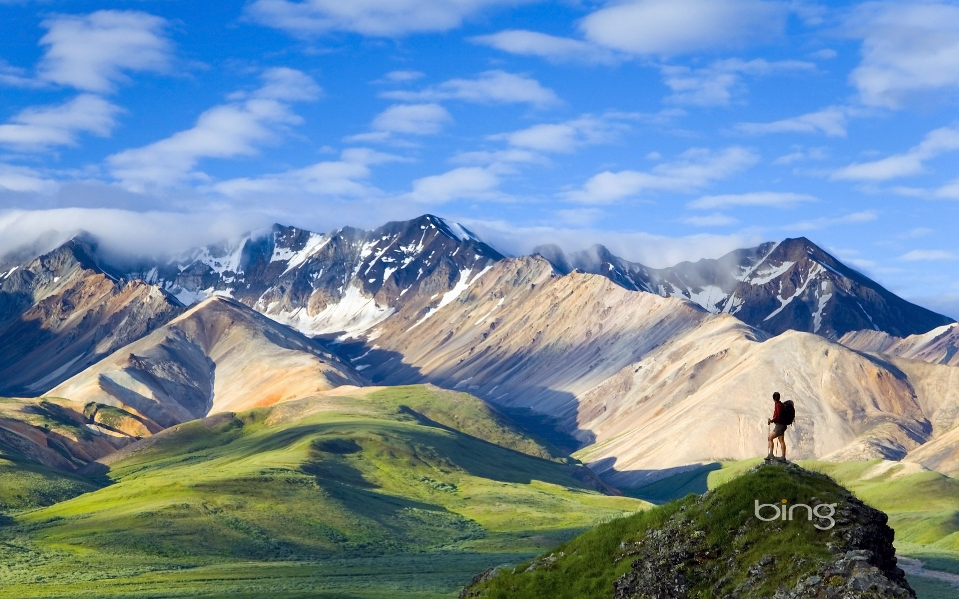
[(574, 425), (577, 396), (710, 317), (599, 275), (559, 275), (538, 256), (507, 259), (432, 308), (395, 314), (354, 363), (374, 380), (426, 378)]

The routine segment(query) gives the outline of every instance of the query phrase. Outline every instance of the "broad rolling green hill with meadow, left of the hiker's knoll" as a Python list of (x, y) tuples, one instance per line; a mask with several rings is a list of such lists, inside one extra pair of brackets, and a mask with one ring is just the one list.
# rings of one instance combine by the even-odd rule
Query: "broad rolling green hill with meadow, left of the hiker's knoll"
[(0, 597), (450, 596), (647, 505), (418, 385), (220, 414), (103, 462), (82, 471), (103, 488), (0, 526)]

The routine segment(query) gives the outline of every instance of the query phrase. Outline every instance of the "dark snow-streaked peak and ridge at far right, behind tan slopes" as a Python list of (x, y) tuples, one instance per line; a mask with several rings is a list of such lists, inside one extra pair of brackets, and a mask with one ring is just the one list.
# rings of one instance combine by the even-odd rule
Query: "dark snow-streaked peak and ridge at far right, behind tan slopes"
[(559, 270), (576, 268), (625, 288), (683, 297), (772, 334), (794, 330), (836, 339), (868, 329), (903, 336), (952, 322), (906, 302), (806, 238), (667, 268), (622, 260), (601, 245), (569, 257), (555, 247), (538, 249)]

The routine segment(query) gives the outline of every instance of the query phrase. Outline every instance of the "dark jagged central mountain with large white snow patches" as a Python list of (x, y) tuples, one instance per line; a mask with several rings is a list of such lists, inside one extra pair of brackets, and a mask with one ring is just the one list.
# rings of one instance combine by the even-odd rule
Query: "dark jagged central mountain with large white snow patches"
[(277, 224), (129, 276), (184, 303), (224, 295), (303, 333), (352, 336), (414, 297), (426, 294), (438, 305), (437, 298), (502, 258), (463, 226), (425, 215), (330, 234)]

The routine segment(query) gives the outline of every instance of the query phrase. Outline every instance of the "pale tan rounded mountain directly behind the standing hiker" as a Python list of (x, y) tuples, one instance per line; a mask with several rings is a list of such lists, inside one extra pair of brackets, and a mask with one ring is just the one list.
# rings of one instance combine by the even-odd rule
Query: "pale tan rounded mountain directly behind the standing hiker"
[(945, 434), (955, 419), (947, 405), (959, 405), (959, 388), (945, 381), (954, 369), (933, 377), (927, 367), (813, 334), (762, 342), (693, 334), (579, 398), (579, 426), (596, 444), (577, 457), (613, 484), (635, 486), (664, 469), (762, 455), (779, 390), (798, 413), (786, 438), (791, 459), (901, 459)]

